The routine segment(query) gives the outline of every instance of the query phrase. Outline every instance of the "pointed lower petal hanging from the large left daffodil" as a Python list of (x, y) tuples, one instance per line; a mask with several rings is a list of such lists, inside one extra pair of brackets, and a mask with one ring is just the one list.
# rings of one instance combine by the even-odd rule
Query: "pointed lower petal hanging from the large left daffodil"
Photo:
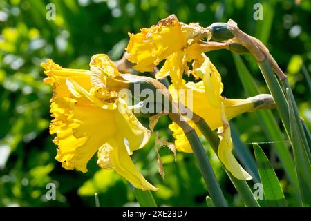
[(126, 151), (124, 140), (121, 137), (115, 137), (109, 140), (109, 142), (100, 148), (97, 163), (106, 169), (115, 169), (117, 173), (131, 182), (135, 188), (152, 191), (158, 190), (147, 182), (138, 169), (136, 169), (129, 153)]

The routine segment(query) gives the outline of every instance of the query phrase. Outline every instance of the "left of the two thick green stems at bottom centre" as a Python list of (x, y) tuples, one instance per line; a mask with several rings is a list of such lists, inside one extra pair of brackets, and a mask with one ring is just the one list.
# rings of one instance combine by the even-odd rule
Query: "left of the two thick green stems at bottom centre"
[(211, 168), (211, 164), (205, 153), (205, 149), (203, 148), (196, 131), (192, 129), (185, 133), (192, 150), (194, 151), (194, 155), (196, 156), (196, 161), (198, 162), (198, 166), (202, 173), (203, 179), (207, 186), (207, 190), (209, 191), (209, 195), (211, 195), (211, 199), (214, 202), (215, 206), (227, 207), (227, 202), (225, 197), (223, 196), (223, 192), (220, 189), (220, 185), (216, 179), (216, 175)]

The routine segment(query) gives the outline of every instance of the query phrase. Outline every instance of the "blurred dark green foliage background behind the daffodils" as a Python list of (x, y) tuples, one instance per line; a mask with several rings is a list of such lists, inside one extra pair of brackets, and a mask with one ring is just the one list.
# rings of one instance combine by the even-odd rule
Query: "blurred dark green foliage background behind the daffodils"
[[(55, 20), (46, 19), (48, 3), (55, 4)], [(262, 21), (253, 19), (255, 3), (263, 5)], [(63, 67), (88, 68), (96, 53), (120, 59), (128, 32), (139, 32), (172, 13), (182, 22), (199, 22), (201, 26), (232, 18), (243, 31), (261, 39), (288, 75), (300, 114), (310, 128), (311, 1), (0, 0), (0, 206), (95, 206), (94, 193), (99, 195), (100, 206), (138, 205), (131, 186), (114, 171), (100, 169), (96, 155), (88, 163), (88, 173), (66, 171), (54, 159), (56, 146), (48, 133), (51, 88), (43, 84), (39, 64), (52, 58)], [(231, 52), (207, 55), (223, 76), (223, 95), (245, 98)], [(252, 56), (243, 59), (261, 92), (268, 93)], [(278, 116), (276, 111), (274, 115)], [(241, 115), (232, 122), (250, 151), (250, 143), (270, 141), (254, 114)], [(172, 141), (169, 123), (162, 117), (156, 131), (163, 140)], [(285, 138), (281, 142), (288, 144)], [(162, 148), (163, 181), (154, 144), (153, 135), (132, 158), (147, 180), (160, 188), (154, 193), (158, 204), (205, 206), (207, 190), (194, 156), (178, 153), (175, 163), (173, 154)], [(206, 142), (205, 146), (229, 205), (243, 206)], [(272, 144), (261, 146), (291, 205), (292, 187)], [(50, 182), (57, 186), (56, 200), (46, 200)]]

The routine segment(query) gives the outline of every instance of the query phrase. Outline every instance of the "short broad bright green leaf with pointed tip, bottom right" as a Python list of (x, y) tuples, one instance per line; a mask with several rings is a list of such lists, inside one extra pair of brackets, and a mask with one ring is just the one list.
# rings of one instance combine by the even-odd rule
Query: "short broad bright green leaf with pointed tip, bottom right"
[(265, 195), (267, 206), (286, 206), (286, 201), (278, 177), (276, 177), (272, 165), (258, 144), (254, 144), (254, 153), (258, 165), (258, 172), (261, 177), (261, 184), (263, 184), (263, 193)]

